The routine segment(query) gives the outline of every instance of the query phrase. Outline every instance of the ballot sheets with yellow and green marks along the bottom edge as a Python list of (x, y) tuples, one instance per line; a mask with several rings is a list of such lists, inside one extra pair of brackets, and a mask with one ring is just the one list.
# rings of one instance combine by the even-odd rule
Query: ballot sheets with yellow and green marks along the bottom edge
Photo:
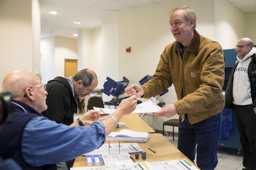
[(162, 162), (134, 162), (127, 164), (105, 165), (101, 167), (77, 167), (70, 170), (198, 170), (186, 159), (169, 160)]

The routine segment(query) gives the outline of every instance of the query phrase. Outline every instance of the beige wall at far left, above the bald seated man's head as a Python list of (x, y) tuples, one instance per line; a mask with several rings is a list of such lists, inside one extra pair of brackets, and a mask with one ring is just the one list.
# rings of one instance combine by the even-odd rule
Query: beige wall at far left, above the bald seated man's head
[(32, 71), (31, 1), (0, 1), (0, 88), (14, 70)]

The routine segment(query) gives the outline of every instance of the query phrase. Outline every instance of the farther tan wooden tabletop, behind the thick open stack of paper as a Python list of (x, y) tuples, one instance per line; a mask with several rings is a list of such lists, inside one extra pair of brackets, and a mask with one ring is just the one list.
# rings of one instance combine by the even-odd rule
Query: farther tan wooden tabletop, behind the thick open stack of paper
[[(133, 130), (136, 132), (147, 132), (154, 133), (155, 131), (146, 124), (136, 113), (131, 113), (123, 116), (119, 122), (126, 123), (129, 126), (129, 130)], [(113, 132), (119, 132), (120, 130), (125, 128), (115, 128)]]

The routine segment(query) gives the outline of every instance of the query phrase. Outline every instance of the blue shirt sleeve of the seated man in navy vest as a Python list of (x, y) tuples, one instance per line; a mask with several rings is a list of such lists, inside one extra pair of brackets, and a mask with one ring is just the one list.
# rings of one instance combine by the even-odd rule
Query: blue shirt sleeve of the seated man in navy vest
[(69, 127), (45, 117), (34, 117), (22, 134), (22, 157), (31, 166), (65, 162), (99, 148), (105, 136), (101, 121), (89, 127)]

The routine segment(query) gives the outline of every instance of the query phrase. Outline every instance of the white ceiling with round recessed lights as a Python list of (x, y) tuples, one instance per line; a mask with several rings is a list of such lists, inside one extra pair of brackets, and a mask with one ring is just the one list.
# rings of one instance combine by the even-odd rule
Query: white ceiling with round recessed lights
[[(64, 36), (76, 38), (78, 29), (96, 28), (117, 11), (154, 5), (171, 0), (40, 0), (41, 38)], [(256, 11), (256, 0), (227, 0), (243, 12)], [(58, 14), (48, 14), (56, 11)], [(81, 24), (74, 24), (74, 22)]]

